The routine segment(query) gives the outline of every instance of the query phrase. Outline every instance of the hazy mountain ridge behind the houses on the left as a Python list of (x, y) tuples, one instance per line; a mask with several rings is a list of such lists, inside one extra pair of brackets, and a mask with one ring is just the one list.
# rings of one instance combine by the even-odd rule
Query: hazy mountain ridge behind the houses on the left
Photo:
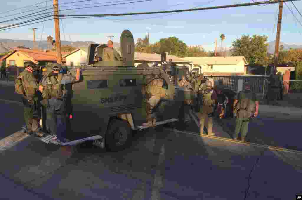
[[(69, 45), (72, 47), (88, 47), (90, 43), (94, 43), (92, 41), (76, 41), (76, 42), (70, 42), (70, 41), (61, 41), (61, 45)], [(11, 39), (0, 39), (0, 53), (8, 52), (9, 50), (12, 50), (16, 48), (17, 46), (25, 46), (27, 48), (33, 49), (34, 48), (34, 42), (32, 40), (11, 40)], [(47, 49), (47, 41), (42, 40), (36, 41), (36, 47), (38, 49)], [(113, 43), (113, 46), (115, 49), (119, 50), (120, 49), (120, 43)]]

